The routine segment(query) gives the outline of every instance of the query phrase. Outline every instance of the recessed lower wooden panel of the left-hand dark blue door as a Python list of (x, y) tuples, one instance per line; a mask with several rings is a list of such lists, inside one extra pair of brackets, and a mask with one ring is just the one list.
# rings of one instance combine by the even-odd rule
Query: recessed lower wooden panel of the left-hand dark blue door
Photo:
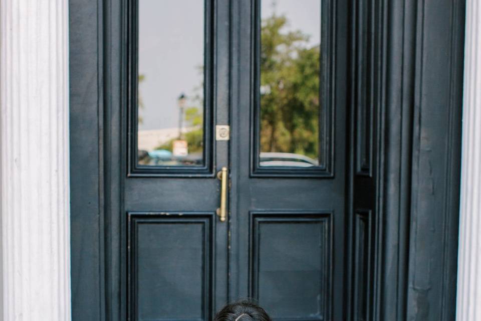
[(213, 213), (129, 213), (130, 315), (207, 320)]

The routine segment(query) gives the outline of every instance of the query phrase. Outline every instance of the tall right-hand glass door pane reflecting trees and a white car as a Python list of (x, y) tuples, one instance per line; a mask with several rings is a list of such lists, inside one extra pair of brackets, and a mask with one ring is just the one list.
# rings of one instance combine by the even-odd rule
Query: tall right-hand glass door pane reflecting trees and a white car
[(319, 158), (320, 0), (261, 2), (260, 166)]

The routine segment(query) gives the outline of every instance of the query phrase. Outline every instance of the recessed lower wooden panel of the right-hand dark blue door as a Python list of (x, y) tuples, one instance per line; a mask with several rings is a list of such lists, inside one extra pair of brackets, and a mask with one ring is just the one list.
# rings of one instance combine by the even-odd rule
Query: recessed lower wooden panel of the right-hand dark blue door
[(331, 214), (252, 215), (252, 296), (275, 319), (326, 319)]

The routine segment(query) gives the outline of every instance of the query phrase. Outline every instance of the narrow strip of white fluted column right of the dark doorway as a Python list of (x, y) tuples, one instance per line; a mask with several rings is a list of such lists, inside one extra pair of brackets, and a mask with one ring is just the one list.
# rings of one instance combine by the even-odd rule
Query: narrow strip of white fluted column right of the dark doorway
[(481, 2), (466, 0), (457, 321), (481, 320)]

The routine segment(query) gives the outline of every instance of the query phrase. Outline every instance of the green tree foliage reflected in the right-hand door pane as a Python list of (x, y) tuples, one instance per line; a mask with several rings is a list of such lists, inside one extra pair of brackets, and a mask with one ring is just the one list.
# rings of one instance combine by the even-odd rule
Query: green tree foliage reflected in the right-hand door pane
[(261, 28), (261, 151), (318, 158), (320, 47), (285, 16)]

